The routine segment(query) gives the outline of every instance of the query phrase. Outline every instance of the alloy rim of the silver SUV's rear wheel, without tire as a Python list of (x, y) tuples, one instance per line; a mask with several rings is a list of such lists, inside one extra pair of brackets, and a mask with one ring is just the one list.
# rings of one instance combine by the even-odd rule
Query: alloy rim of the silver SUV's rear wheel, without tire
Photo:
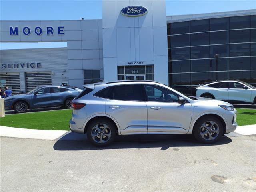
[(92, 139), (96, 143), (106, 143), (108, 140), (110, 140), (111, 137), (111, 129), (108, 125), (106, 124), (96, 124), (92, 128), (91, 132)]

